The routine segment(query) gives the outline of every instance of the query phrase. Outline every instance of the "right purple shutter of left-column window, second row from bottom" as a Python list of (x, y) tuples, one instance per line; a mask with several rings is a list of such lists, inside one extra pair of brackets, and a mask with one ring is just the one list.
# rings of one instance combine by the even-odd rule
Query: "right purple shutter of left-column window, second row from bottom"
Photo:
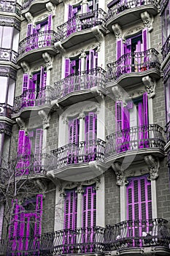
[(34, 172), (41, 171), (43, 129), (36, 129)]

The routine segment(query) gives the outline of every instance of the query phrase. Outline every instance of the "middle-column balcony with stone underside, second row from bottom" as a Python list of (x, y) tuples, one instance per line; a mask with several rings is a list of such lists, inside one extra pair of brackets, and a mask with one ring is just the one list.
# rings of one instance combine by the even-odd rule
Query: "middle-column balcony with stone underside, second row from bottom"
[[(107, 169), (104, 165), (104, 149), (104, 140), (96, 139), (69, 143), (53, 150), (54, 158), (51, 162), (53, 175), (63, 179), (67, 177), (67, 180), (74, 181), (82, 181), (85, 177), (93, 178), (90, 162)], [(98, 168), (96, 169), (95, 175), (98, 176), (101, 173)]]

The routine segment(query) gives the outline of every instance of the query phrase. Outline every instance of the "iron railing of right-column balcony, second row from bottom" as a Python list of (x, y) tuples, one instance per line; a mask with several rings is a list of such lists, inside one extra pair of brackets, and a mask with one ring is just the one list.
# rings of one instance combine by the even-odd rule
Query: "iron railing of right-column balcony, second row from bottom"
[(163, 128), (158, 124), (121, 129), (107, 136), (105, 157), (139, 148), (160, 148), (165, 146)]

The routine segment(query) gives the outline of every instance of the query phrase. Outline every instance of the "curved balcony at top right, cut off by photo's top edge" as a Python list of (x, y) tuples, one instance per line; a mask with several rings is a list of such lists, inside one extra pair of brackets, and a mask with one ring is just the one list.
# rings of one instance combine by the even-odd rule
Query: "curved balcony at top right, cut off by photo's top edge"
[(112, 25), (118, 23), (120, 26), (142, 20), (142, 12), (150, 15), (158, 13), (158, 1), (156, 0), (130, 0), (111, 1), (107, 7), (109, 11), (106, 16), (107, 29), (112, 31)]

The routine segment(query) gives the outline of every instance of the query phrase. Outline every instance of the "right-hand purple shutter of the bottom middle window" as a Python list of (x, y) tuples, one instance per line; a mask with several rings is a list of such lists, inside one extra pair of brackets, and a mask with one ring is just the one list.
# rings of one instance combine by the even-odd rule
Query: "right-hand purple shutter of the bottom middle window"
[(82, 197), (82, 227), (96, 226), (96, 190), (86, 187)]

